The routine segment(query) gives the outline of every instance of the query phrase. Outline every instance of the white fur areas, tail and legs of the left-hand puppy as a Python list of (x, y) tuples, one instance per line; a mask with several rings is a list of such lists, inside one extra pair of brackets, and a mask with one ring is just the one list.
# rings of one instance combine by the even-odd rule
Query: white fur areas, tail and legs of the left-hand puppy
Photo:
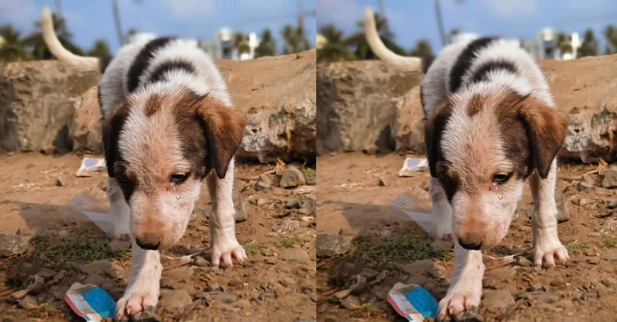
[[(47, 8), (43, 10), (43, 32), (52, 54), (62, 62), (78, 70), (94, 71), (99, 68), (98, 59), (78, 57), (62, 47), (54, 33)], [(123, 163), (133, 173), (143, 180), (158, 180), (158, 171), (170, 169), (171, 173), (186, 173), (191, 165), (180, 151), (183, 132), (176, 125), (171, 109), (161, 108), (154, 115), (147, 116), (148, 99), (156, 95), (162, 97), (161, 104), (174, 105), (175, 100), (188, 89), (200, 96), (207, 94), (226, 107), (231, 108), (232, 104), (223, 78), (212, 61), (193, 42), (181, 39), (171, 40), (155, 51), (148, 69), (140, 76), (140, 84), (145, 85), (129, 93), (126, 80), (130, 66), (146, 43), (128, 44), (120, 49), (102, 76), (99, 95), (104, 119), (114, 113), (118, 104), (130, 102), (130, 112), (119, 133), (118, 151)], [(148, 84), (154, 68), (170, 60), (191, 62), (195, 71), (170, 70), (164, 73), (164, 79)], [(209, 226), (212, 263), (215, 266), (232, 266), (234, 262), (246, 260), (246, 252), (238, 243), (234, 230), (233, 177), (232, 158), (224, 178), (219, 178), (215, 171), (206, 178), (212, 200)], [(154, 194), (152, 190), (136, 188), (128, 204), (116, 178), (109, 178), (107, 186), (116, 235), (120, 239), (130, 236), (132, 241), (133, 258), (128, 286), (125, 295), (118, 300), (116, 312), (117, 319), (125, 320), (128, 315), (154, 307), (159, 299), (162, 272), (159, 251), (142, 249), (136, 239), (143, 237), (144, 231), (150, 229), (147, 232), (158, 236), (160, 246), (175, 244), (183, 236), (191, 217), (194, 203), (199, 197), (201, 180), (189, 178), (182, 184), (153, 184)], [(153, 213), (155, 217), (152, 217)], [(146, 226), (149, 228), (144, 228)]]

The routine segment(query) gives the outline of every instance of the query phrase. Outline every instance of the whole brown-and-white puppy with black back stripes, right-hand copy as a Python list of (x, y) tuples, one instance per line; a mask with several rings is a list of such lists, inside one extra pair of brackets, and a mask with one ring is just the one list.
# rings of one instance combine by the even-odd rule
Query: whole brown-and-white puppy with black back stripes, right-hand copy
[[(365, 10), (366, 39), (395, 68), (420, 70), (423, 61), (389, 51), (373, 12)], [(565, 263), (557, 234), (556, 155), (568, 128), (555, 110), (549, 85), (518, 44), (478, 38), (446, 46), (421, 83), (429, 191), (437, 234), (453, 239), (454, 270), (439, 320), (478, 307), (483, 249), (508, 231), (523, 184), (534, 199), (534, 264)]]

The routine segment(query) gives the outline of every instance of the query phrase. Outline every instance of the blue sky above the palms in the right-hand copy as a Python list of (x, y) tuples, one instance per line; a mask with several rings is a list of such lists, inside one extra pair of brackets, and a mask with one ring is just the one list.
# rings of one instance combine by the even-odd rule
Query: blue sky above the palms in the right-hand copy
[[(433, 51), (441, 49), (433, 0), (384, 0), (384, 9), (395, 40), (411, 49), (419, 39), (428, 39)], [(378, 0), (317, 0), (317, 27), (333, 23), (345, 35), (357, 31), (365, 6), (378, 10)], [(617, 25), (615, 0), (441, 0), (444, 30), (453, 28), (479, 35), (535, 39), (540, 28), (557, 31), (594, 29), (603, 38), (608, 24)], [(342, 14), (344, 12), (344, 14)], [(604, 41), (600, 51), (604, 51)]]

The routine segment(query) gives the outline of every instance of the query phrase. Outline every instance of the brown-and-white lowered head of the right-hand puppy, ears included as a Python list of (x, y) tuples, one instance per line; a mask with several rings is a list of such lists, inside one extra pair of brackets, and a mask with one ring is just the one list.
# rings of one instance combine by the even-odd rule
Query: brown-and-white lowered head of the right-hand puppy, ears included
[(424, 128), (431, 176), (444, 188), (454, 236), (466, 249), (501, 241), (524, 180), (534, 170), (547, 177), (568, 125), (534, 97), (484, 93), (454, 94)]

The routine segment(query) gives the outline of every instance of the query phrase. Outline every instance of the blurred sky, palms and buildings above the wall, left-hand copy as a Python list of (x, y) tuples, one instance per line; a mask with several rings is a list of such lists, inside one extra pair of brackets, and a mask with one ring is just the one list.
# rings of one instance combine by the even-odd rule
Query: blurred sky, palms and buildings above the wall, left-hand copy
[(155, 36), (195, 39), (213, 59), (254, 59), (315, 47), (314, 0), (0, 0), (0, 60), (51, 59), (43, 6), (60, 41), (79, 55), (109, 57)]

